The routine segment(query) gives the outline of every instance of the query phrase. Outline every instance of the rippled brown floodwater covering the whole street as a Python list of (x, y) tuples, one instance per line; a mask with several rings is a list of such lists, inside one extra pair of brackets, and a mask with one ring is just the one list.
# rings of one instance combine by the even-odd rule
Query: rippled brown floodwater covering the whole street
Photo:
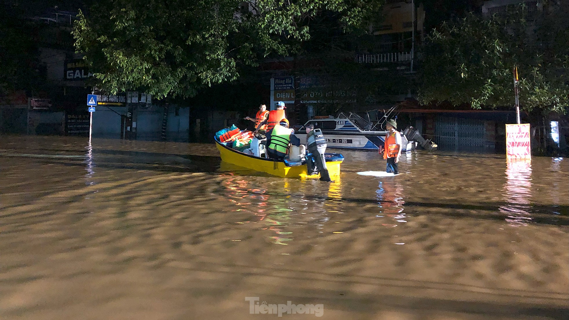
[(278, 318), (248, 297), (321, 305), (287, 319), (569, 318), (569, 159), (415, 151), (372, 177), (377, 153), (342, 153), (327, 183), (212, 144), (0, 136), (0, 319)]

